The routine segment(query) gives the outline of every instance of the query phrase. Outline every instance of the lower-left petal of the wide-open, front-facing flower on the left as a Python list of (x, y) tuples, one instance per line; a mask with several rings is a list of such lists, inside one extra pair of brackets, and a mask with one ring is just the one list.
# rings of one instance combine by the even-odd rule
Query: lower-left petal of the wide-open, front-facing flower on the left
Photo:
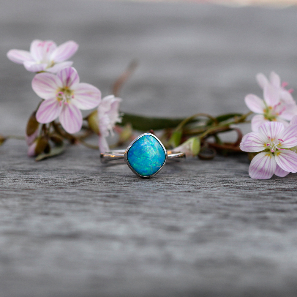
[(42, 101), (36, 113), (37, 121), (45, 124), (55, 120), (62, 110), (59, 103), (60, 102), (56, 98)]

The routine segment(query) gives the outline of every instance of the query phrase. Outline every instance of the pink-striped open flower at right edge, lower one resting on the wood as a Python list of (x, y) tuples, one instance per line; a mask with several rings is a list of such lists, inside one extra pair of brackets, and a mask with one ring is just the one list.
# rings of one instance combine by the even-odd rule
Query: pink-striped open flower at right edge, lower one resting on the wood
[(240, 149), (260, 152), (249, 166), (251, 178), (267, 179), (273, 174), (286, 176), (297, 172), (297, 154), (290, 150), (297, 145), (297, 125), (285, 127), (279, 122), (266, 122), (258, 132), (244, 135)]

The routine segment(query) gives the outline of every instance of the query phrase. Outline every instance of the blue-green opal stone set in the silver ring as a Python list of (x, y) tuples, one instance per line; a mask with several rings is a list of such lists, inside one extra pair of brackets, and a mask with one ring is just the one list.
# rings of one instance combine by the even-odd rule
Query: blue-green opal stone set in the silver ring
[(127, 160), (135, 172), (142, 176), (151, 176), (162, 167), (166, 154), (156, 138), (143, 135), (129, 148)]

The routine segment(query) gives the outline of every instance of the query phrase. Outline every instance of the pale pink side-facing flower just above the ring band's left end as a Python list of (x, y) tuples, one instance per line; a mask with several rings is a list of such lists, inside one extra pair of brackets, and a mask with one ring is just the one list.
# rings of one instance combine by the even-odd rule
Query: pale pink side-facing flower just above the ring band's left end
[(109, 95), (104, 97), (98, 106), (98, 144), (101, 153), (109, 151), (106, 137), (110, 134), (113, 135), (113, 127), (122, 120), (119, 115), (119, 105), (121, 101), (121, 98)]

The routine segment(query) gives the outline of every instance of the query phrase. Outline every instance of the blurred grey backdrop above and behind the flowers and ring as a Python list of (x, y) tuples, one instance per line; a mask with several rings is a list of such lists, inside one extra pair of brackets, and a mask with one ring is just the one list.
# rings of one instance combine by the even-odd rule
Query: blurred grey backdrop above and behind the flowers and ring
[[(297, 86), (297, 8), (288, 6), (294, 1), (210, 2), (1, 1), (0, 133), (23, 134), (39, 102), (34, 74), (6, 57), (12, 48), (29, 50), (34, 39), (78, 42), (73, 66), (103, 95), (138, 59), (121, 91), (121, 110), (129, 113), (244, 113), (246, 94), (262, 96), (258, 72), (274, 70), (289, 88)], [(248, 2), (256, 5), (239, 5)]]

